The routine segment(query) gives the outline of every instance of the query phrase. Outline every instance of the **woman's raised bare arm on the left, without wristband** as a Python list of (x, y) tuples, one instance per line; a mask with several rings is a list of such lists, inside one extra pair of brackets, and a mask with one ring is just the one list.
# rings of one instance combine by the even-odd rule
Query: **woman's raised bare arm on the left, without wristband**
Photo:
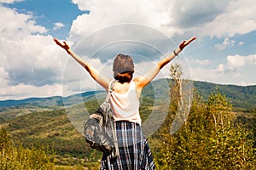
[(73, 59), (75, 59), (80, 65), (82, 65), (86, 71), (89, 72), (90, 77), (92, 77), (96, 82), (98, 82), (102, 88), (105, 88), (108, 91), (108, 83), (111, 81), (107, 77), (103, 77), (100, 75), (99, 71), (97, 71), (95, 68), (93, 68), (88, 63), (85, 63), (83, 59), (79, 57), (78, 54), (75, 54), (73, 50), (67, 45), (67, 42), (61, 43), (58, 39), (54, 39), (57, 45), (59, 45), (61, 48), (64, 48), (67, 51), (67, 54), (70, 54)]

